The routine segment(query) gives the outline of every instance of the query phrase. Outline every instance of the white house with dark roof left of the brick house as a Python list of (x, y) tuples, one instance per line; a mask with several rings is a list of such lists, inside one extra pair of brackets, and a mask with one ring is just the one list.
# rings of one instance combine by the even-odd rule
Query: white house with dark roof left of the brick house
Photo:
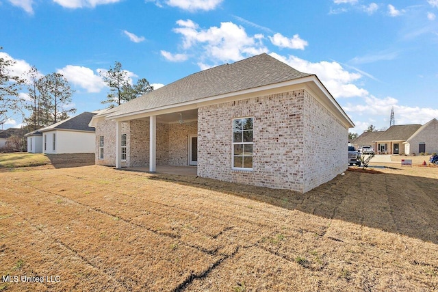
[(88, 127), (94, 112), (62, 120), (50, 126), (27, 133), (27, 152), (30, 153), (93, 153), (95, 129)]

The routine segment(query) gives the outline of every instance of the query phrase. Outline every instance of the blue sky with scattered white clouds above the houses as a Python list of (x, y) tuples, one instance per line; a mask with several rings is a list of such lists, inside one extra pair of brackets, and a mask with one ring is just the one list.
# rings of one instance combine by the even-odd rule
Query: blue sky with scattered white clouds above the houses
[(318, 75), (352, 132), (389, 127), (391, 107), (396, 124), (438, 118), (438, 0), (0, 0), (0, 15), (1, 56), (62, 73), (77, 114), (103, 108), (115, 61), (157, 88), (265, 52)]

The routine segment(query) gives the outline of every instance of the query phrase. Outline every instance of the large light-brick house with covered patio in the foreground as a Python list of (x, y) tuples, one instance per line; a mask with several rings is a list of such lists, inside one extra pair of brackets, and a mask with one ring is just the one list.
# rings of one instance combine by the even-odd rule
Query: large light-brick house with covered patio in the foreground
[(92, 118), (96, 164), (309, 191), (348, 167), (354, 124), (316, 75), (266, 53), (184, 77)]

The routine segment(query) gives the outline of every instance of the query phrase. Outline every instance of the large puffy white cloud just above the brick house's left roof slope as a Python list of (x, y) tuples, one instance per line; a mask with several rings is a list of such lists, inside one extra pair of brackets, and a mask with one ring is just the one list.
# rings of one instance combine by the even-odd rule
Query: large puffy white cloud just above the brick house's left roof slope
[(209, 29), (200, 29), (190, 20), (177, 21), (177, 25), (179, 27), (174, 31), (182, 35), (183, 49), (203, 50), (196, 53), (200, 56), (199, 62), (203, 62), (203, 59), (208, 59), (210, 63), (235, 62), (268, 51), (261, 41), (263, 36), (248, 36), (244, 27), (231, 22), (220, 23), (220, 27)]

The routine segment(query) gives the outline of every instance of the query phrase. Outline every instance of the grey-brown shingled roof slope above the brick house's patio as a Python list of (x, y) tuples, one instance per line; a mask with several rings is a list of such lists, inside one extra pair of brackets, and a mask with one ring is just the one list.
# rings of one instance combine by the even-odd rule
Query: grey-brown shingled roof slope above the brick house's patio
[(131, 114), (309, 76), (314, 75), (295, 70), (274, 57), (262, 53), (233, 64), (224, 64), (194, 73), (133, 99), (129, 103), (114, 107), (105, 114), (108, 114), (108, 117)]

